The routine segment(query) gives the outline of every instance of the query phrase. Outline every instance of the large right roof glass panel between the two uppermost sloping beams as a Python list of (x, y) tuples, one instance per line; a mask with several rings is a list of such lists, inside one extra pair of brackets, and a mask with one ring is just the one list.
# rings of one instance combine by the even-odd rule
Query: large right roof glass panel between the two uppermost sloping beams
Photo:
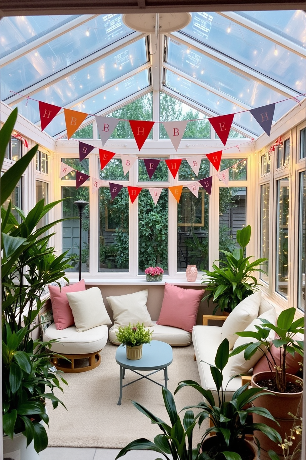
[[(205, 25), (203, 15), (206, 18)], [(306, 91), (305, 58), (229, 18), (217, 13), (193, 13), (191, 22), (183, 32), (297, 92)], [(206, 63), (204, 56), (201, 63)]]

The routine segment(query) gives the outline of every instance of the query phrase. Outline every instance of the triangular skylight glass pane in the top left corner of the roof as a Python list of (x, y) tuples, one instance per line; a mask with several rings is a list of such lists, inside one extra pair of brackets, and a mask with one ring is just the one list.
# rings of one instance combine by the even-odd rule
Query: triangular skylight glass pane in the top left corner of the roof
[(69, 23), (76, 17), (78, 16), (3, 17), (0, 21), (0, 57), (37, 40), (42, 35)]

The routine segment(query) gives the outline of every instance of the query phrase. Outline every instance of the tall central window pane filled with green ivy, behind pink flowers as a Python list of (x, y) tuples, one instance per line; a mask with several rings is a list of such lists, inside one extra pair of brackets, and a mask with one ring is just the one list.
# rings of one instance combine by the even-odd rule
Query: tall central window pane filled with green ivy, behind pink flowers
[(149, 190), (138, 197), (138, 273), (147, 267), (168, 273), (168, 190), (163, 189), (155, 206)]

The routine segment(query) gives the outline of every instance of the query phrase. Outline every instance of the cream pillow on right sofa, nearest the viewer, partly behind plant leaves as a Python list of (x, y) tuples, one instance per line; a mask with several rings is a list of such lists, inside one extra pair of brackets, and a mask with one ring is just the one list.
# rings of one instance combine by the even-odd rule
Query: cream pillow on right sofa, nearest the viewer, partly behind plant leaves
[[(266, 319), (267, 321), (275, 324), (275, 321), (276, 321), (275, 308), (272, 308), (271, 310), (268, 310), (265, 313), (262, 313), (261, 316), (258, 316), (258, 318), (256, 318), (254, 321), (252, 321), (250, 323), (250, 325), (247, 328), (245, 328), (245, 331), (255, 331), (255, 332), (257, 332), (257, 329), (256, 329), (255, 326), (260, 326), (262, 324), (262, 322), (260, 321), (261, 318)], [(237, 332), (241, 332), (241, 331), (237, 331)], [(237, 348), (240, 345), (244, 345), (244, 344), (247, 344), (247, 343), (250, 343), (250, 342), (256, 342), (257, 341), (256, 339), (253, 339), (252, 337), (239, 337), (239, 336), (237, 336), (237, 337), (238, 337), (238, 339), (235, 342), (234, 349)], [(270, 333), (268, 335), (267, 341), (271, 342), (271, 340), (274, 340), (274, 338), (275, 338), (275, 332), (271, 329), (271, 331), (270, 331)], [(264, 351), (265, 352), (267, 351), (266, 347), (264, 347)], [(233, 375), (245, 374), (245, 373), (249, 372), (249, 370), (251, 368), (253, 368), (255, 366), (256, 362), (259, 361), (260, 358), (262, 357), (262, 351), (257, 350), (254, 353), (254, 355), (248, 360), (245, 360), (245, 357), (243, 355), (244, 355), (244, 351), (242, 351), (238, 355), (235, 355), (235, 356), (232, 356), (232, 357), (229, 358), (229, 360), (231, 362), (231, 369), (230, 369), (230, 372), (229, 372), (230, 377), (233, 377)]]

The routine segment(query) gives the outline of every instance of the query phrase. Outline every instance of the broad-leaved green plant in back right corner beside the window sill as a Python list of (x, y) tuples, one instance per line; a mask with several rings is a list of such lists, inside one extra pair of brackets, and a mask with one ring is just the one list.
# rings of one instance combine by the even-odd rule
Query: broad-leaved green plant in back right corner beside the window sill
[[(261, 258), (250, 262), (252, 256), (245, 257), (245, 248), (250, 242), (251, 227), (247, 225), (242, 230), (237, 230), (236, 240), (239, 248), (233, 251), (221, 251), (226, 260), (215, 260), (212, 264), (214, 271), (202, 270), (202, 284), (205, 284), (206, 295), (202, 300), (208, 299), (217, 304), (213, 314), (218, 309), (222, 312), (231, 312), (234, 308), (256, 290), (258, 281), (253, 276), (255, 271), (265, 273), (259, 266), (267, 259)], [(219, 267), (216, 265), (219, 263)]]

